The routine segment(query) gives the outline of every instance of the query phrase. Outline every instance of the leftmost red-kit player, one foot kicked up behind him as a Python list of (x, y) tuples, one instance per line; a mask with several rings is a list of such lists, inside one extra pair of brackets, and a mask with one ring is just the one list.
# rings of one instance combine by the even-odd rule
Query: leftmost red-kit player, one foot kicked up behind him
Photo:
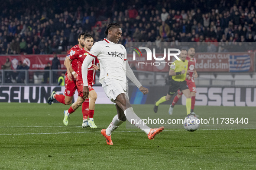
[[(69, 56), (75, 52), (75, 50), (78, 49), (83, 49), (84, 48), (84, 35), (85, 33), (81, 33), (78, 35), (78, 44), (72, 47), (68, 55), (65, 59), (64, 65), (66, 68), (69, 68), (70, 72), (66, 72), (65, 74), (65, 95), (62, 94), (56, 94), (55, 91), (52, 91), (50, 97), (48, 98), (48, 104), (51, 105), (52, 102), (56, 99), (58, 102), (69, 105), (72, 103), (75, 91), (78, 89), (76, 85), (76, 79), (77, 79), (77, 74), (76, 72), (78, 71), (78, 61), (72, 60), (70, 64), (67, 65), (67, 60), (69, 60)], [(71, 76), (71, 79), (68, 79)], [(89, 114), (89, 99), (86, 99), (84, 103), (82, 104), (82, 113), (83, 113), (83, 118), (87, 118)], [(84, 121), (83, 121), (84, 122)], [(87, 127), (87, 123), (82, 123), (82, 127)]]

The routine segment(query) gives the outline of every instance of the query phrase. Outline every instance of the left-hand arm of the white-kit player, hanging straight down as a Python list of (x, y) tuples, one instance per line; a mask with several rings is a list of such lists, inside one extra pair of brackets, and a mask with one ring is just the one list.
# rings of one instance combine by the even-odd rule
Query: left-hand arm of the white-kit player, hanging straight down
[(83, 78), (83, 84), (84, 84), (84, 87), (83, 87), (84, 98), (88, 98), (88, 95), (89, 95), (87, 74), (88, 74), (88, 66), (90, 65), (92, 60), (94, 60), (94, 57), (92, 57), (91, 55), (87, 55), (85, 57), (84, 61), (83, 61), (83, 64), (82, 64), (82, 78)]

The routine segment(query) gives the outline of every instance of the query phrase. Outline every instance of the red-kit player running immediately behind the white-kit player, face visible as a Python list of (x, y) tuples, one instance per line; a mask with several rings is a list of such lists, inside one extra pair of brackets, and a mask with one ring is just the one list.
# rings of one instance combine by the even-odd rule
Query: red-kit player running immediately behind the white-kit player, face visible
[[(82, 79), (82, 74), (81, 74), (82, 73), (81, 66), (83, 64), (84, 59), (87, 57), (87, 54), (91, 50), (93, 42), (94, 42), (93, 36), (91, 34), (85, 34), (84, 35), (84, 48), (75, 50), (72, 54), (70, 54), (69, 60), (67, 60), (67, 65), (70, 65), (72, 60), (78, 61), (77, 81), (76, 81), (76, 85), (78, 88), (78, 99), (75, 103), (73, 103), (71, 105), (71, 107), (69, 107), (68, 110), (64, 111), (63, 123), (65, 126), (68, 125), (69, 115), (71, 113), (75, 112), (75, 110), (78, 109), (78, 107), (80, 107), (84, 103), (84, 101), (87, 99), (87, 97), (84, 98), (84, 95), (83, 95), (83, 79)], [(93, 119), (95, 101), (97, 99), (97, 93), (92, 88), (92, 86), (94, 85), (94, 81), (95, 81), (95, 71), (97, 69), (99, 69), (99, 67), (96, 66), (97, 63), (99, 63), (99, 61), (97, 60), (97, 58), (95, 58), (94, 60), (92, 60), (92, 62), (90, 63), (90, 66), (88, 67), (88, 70), (87, 70), (88, 71), (88, 74), (87, 74), (88, 88), (90, 90), (89, 98), (91, 100), (89, 102), (89, 114), (88, 114), (89, 120), (87, 120), (87, 117), (83, 116), (83, 125), (90, 126), (91, 128), (97, 128), (97, 126), (94, 123), (94, 119)], [(67, 68), (67, 72), (68, 72), (67, 77), (69, 80), (71, 80), (72, 77), (71, 77), (69, 68)]]

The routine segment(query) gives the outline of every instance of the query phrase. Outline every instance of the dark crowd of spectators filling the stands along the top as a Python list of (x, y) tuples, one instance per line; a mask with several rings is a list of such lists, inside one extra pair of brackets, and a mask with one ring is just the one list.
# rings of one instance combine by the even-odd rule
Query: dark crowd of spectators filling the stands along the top
[(0, 54), (66, 53), (81, 32), (102, 40), (111, 22), (121, 25), (123, 45), (254, 42), (255, 8), (252, 0), (6, 0), (0, 6)]

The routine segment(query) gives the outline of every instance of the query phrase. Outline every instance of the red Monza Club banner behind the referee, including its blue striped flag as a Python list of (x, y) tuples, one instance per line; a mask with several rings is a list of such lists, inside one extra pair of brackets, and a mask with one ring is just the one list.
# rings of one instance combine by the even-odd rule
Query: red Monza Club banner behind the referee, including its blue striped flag
[[(173, 62), (175, 57), (167, 57), (163, 61), (146, 60), (146, 54), (136, 57), (133, 60), (133, 54), (128, 54), (128, 61), (138, 71), (151, 72), (168, 72), (170, 69), (169, 62)], [(156, 54), (157, 58), (162, 58), (164, 54)], [(195, 68), (198, 72), (253, 72), (254, 71), (254, 56), (253, 52), (237, 52), (237, 53), (196, 53)], [(131, 66), (131, 67), (132, 67)]]

